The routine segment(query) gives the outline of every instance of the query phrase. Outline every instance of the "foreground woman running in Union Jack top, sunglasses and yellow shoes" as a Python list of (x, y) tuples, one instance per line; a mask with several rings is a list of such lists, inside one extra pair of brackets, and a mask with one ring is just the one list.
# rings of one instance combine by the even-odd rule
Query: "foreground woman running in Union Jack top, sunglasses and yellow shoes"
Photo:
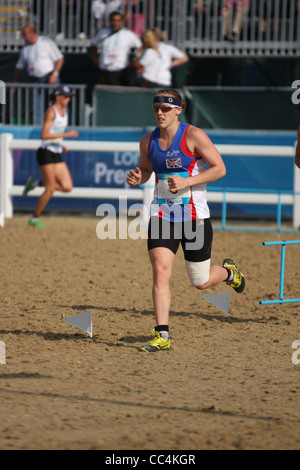
[[(234, 261), (211, 266), (213, 230), (206, 200), (206, 184), (222, 178), (223, 160), (202, 130), (179, 121), (185, 103), (177, 91), (160, 90), (153, 111), (158, 127), (140, 141), (140, 161), (126, 181), (144, 184), (154, 171), (156, 182), (150, 209), (148, 252), (153, 270), (154, 339), (142, 351), (170, 349), (169, 282), (181, 243), (188, 277), (199, 290), (226, 282), (241, 293), (244, 275)], [(206, 168), (205, 164), (208, 165)]]

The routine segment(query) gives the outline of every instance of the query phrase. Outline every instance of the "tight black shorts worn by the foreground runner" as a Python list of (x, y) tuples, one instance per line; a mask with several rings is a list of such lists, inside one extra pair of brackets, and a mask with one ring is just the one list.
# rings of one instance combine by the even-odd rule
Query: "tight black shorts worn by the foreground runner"
[(186, 261), (206, 261), (211, 258), (213, 229), (210, 219), (168, 222), (151, 217), (148, 227), (148, 250), (163, 247), (174, 254), (181, 244)]

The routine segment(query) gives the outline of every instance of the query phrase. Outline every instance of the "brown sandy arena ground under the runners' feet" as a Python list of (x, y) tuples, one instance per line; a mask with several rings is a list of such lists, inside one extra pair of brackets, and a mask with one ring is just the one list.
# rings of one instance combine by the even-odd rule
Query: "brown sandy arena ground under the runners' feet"
[[(242, 295), (190, 287), (180, 249), (172, 349), (149, 354), (146, 240), (99, 240), (96, 217), (42, 220), (0, 228), (0, 449), (300, 449), (300, 304), (259, 305), (280, 278), (280, 247), (262, 242), (299, 234), (215, 231), (212, 261), (236, 260)], [(299, 261), (287, 247), (285, 298), (299, 297)], [(227, 319), (202, 298), (226, 292)], [(89, 310), (92, 338), (62, 321)]]

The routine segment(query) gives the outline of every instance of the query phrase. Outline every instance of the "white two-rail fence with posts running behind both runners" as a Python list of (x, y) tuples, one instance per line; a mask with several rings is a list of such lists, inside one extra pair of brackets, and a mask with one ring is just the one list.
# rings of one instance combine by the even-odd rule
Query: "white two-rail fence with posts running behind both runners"
[[(36, 150), (40, 145), (40, 140), (13, 139), (12, 134), (3, 133), (0, 137), (0, 225), (4, 226), (4, 219), (13, 216), (13, 196), (21, 196), (24, 187), (13, 184), (13, 150)], [(89, 152), (117, 152), (129, 151), (139, 152), (139, 144), (136, 142), (86, 142), (69, 141), (66, 144), (68, 150), (89, 151)], [(247, 156), (256, 155), (267, 157), (290, 157), (295, 154), (293, 146), (265, 146), (265, 145), (216, 145), (221, 155)], [(253, 158), (256, 158), (253, 157)], [(293, 226), (300, 227), (300, 170), (294, 165), (294, 191), (293, 194), (280, 194), (278, 191), (249, 192), (228, 191), (226, 202), (246, 203), (246, 204), (278, 204), (293, 206)], [(132, 200), (143, 201), (144, 206), (149, 210), (153, 196), (154, 179), (142, 188), (73, 188), (70, 193), (55, 192), (54, 197), (64, 198), (85, 198), (85, 199), (118, 199), (127, 197)], [(31, 192), (31, 196), (40, 196), (43, 188), (36, 188)], [(208, 191), (209, 202), (224, 202), (224, 190)], [(148, 217), (148, 210), (143, 214), (144, 221)]]

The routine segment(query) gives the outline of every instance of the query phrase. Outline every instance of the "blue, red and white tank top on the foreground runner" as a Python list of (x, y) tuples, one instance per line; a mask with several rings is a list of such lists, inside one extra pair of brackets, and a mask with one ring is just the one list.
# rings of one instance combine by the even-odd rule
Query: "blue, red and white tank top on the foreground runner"
[(170, 176), (182, 178), (198, 175), (205, 170), (205, 162), (193, 155), (186, 144), (189, 124), (181, 122), (168, 150), (159, 145), (160, 129), (157, 127), (149, 145), (148, 158), (155, 173), (154, 199), (150, 215), (171, 222), (207, 219), (210, 217), (207, 205), (206, 184), (190, 186), (172, 193), (169, 190)]

